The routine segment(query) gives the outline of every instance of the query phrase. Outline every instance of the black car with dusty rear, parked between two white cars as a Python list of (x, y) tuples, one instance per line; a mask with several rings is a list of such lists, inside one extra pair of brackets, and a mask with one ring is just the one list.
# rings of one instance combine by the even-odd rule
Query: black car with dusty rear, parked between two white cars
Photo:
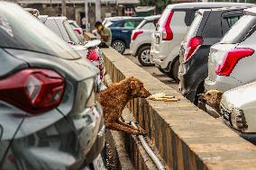
[(181, 42), (179, 54), (179, 84), (181, 93), (192, 103), (205, 91), (210, 47), (221, 40), (243, 14), (244, 6), (199, 10), (187, 36)]

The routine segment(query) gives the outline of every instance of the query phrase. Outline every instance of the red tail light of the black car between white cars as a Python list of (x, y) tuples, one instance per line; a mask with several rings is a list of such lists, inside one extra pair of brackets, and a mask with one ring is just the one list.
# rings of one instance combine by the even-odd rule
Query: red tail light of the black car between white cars
[(187, 56), (186, 60), (192, 56), (196, 49), (203, 44), (204, 40), (201, 37), (192, 37), (187, 41)]

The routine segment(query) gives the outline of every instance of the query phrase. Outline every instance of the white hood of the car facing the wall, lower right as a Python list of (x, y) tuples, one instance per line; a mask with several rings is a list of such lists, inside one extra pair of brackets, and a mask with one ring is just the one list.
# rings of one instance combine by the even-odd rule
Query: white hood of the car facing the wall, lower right
[(245, 109), (256, 105), (256, 82), (233, 88), (223, 94), (221, 103), (227, 109)]

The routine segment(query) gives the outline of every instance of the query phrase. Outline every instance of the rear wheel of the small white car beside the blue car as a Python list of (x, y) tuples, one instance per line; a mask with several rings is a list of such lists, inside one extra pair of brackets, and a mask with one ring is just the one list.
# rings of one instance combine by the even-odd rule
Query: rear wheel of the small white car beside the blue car
[(151, 47), (145, 46), (138, 52), (138, 60), (143, 67), (151, 67)]

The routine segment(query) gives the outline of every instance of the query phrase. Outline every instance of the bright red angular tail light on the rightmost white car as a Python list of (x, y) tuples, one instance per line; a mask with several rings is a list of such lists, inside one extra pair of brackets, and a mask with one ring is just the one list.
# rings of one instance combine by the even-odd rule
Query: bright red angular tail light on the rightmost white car
[(246, 58), (254, 53), (253, 49), (239, 48), (231, 49), (227, 52), (222, 63), (216, 66), (216, 74), (219, 76), (229, 76), (233, 71), (233, 67), (241, 58)]

